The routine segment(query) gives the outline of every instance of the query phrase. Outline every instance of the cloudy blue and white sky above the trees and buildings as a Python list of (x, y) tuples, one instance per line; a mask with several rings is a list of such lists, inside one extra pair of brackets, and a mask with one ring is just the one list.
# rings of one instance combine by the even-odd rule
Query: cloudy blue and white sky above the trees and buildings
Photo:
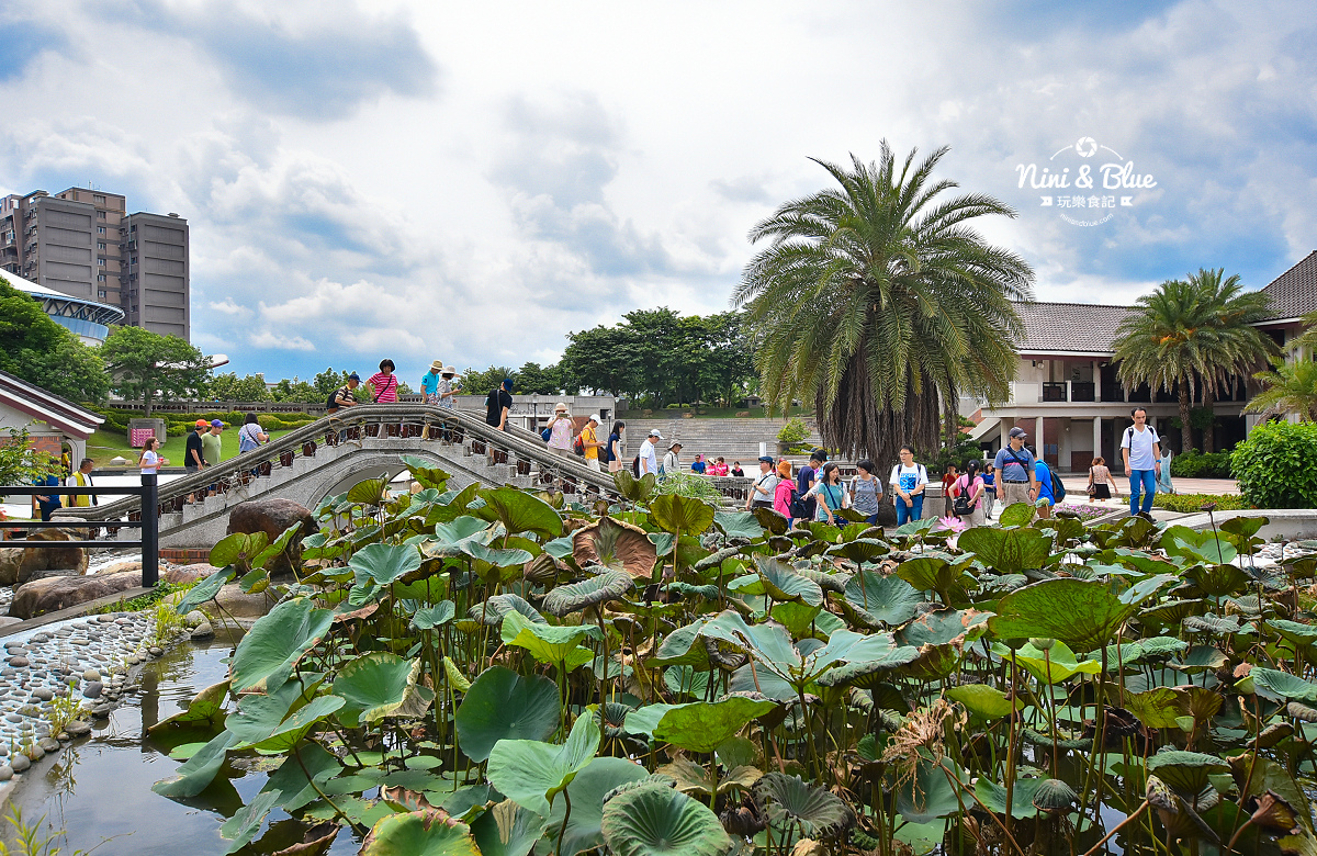
[[(5, 0), (0, 192), (91, 182), (187, 217), (194, 342), (269, 379), (387, 356), (415, 385), (433, 358), (553, 362), (633, 308), (723, 311), (751, 225), (827, 184), (810, 158), (882, 140), (950, 146), (942, 176), (1018, 208), (984, 232), (1039, 299), (1126, 302), (1201, 266), (1260, 287), (1317, 249), (1312, 20), (1303, 1)], [(1155, 186), (1104, 192), (1102, 163)], [(1027, 165), (1087, 165), (1096, 190), (1019, 187)]]

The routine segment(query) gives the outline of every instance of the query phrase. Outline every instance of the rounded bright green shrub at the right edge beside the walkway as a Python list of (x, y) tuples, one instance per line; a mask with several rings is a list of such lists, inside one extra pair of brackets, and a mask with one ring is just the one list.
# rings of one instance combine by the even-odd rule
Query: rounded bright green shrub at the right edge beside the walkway
[(1317, 508), (1317, 424), (1258, 425), (1230, 462), (1239, 493), (1258, 508)]

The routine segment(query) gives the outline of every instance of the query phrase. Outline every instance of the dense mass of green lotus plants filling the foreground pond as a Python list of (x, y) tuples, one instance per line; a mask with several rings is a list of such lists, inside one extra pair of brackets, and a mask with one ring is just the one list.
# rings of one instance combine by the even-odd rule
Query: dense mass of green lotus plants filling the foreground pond
[(408, 464), (178, 606), (277, 601), (151, 728), (155, 799), (269, 772), (228, 852), (1317, 853), (1317, 556), (1254, 566), (1262, 518), (788, 531)]

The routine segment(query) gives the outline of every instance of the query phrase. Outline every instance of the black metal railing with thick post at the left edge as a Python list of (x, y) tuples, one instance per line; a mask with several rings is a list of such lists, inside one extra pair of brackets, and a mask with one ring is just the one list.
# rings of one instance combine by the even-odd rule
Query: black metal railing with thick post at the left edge
[[(67, 487), (67, 486), (32, 486), (32, 485), (11, 485), (0, 487), (0, 496), (137, 496), (144, 507), (153, 507), (158, 503), (159, 485), (157, 482), (157, 475), (154, 473), (144, 473), (141, 486), (133, 487)], [(136, 515), (138, 519), (133, 520), (119, 520), (119, 519), (103, 519), (103, 516), (96, 516), (100, 506), (92, 506), (91, 510), (78, 519), (61, 515), (54, 520), (5, 520), (0, 527), (5, 529), (87, 529), (91, 533), (99, 533), (100, 529), (105, 529), (109, 536), (108, 540), (100, 541), (94, 537), (82, 541), (29, 541), (26, 537), (21, 540), (5, 541), (5, 547), (17, 547), (20, 549), (36, 549), (40, 547), (84, 547), (84, 548), (125, 548), (125, 547), (138, 547), (142, 550), (142, 586), (150, 589), (159, 581), (159, 554), (161, 554), (161, 540), (159, 540), (159, 519), (154, 515)], [(61, 508), (63, 511), (63, 508)], [(136, 541), (120, 541), (113, 536), (119, 529), (141, 529), (142, 535)]]

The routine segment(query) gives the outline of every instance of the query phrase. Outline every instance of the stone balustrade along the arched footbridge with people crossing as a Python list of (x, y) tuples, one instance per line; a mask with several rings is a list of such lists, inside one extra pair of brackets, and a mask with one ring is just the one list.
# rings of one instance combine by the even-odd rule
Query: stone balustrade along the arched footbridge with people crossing
[[(494, 464), (511, 465), (518, 475), (533, 474), (537, 486), (561, 490), (569, 499), (616, 498), (611, 475), (595, 473), (576, 456), (557, 454), (527, 431), (498, 431), (469, 414), (427, 404), (358, 404), (290, 431), (217, 466), (162, 485), (157, 514), (180, 512), (190, 496), (208, 493), (212, 486), (219, 494), (238, 490), (257, 477), (292, 468), (298, 458), (315, 458), (317, 450), (324, 448), (361, 446), (366, 437), (415, 439), (416, 450), (429, 444), (465, 445), (473, 454), (487, 456)], [(140, 520), (141, 507), (141, 502), (132, 498), (100, 506), (95, 514), (105, 519)], [(90, 519), (94, 512), (78, 508), (63, 514)]]

